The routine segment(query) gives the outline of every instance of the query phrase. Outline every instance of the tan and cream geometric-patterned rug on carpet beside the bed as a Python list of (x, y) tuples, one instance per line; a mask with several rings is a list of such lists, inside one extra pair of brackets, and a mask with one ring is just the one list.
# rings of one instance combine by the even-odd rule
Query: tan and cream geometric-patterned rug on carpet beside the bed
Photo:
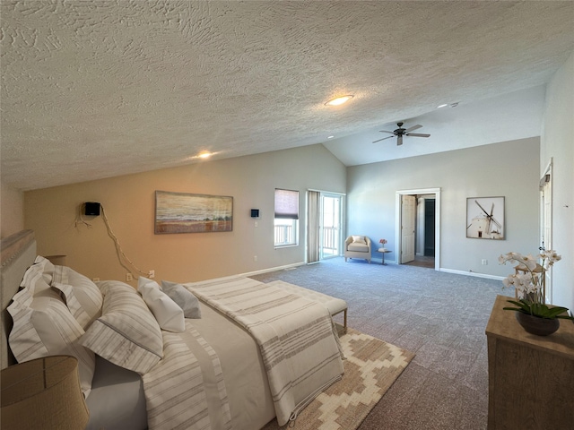
[[(340, 339), (347, 358), (343, 379), (303, 409), (292, 428), (355, 430), (414, 357), (412, 352), (352, 329)], [(263, 430), (279, 428), (274, 420)]]

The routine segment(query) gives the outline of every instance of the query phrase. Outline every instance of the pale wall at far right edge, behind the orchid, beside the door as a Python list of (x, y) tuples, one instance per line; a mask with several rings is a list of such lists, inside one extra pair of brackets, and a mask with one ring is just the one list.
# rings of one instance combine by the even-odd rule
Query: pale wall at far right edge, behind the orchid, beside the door
[(552, 303), (574, 312), (574, 53), (546, 90), (540, 176), (552, 159), (552, 248), (561, 254), (552, 273)]

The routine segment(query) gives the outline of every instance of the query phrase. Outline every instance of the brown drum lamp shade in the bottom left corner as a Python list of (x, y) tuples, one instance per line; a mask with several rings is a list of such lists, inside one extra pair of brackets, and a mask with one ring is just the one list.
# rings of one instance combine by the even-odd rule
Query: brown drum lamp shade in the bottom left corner
[(43, 357), (6, 367), (0, 402), (3, 430), (81, 430), (90, 417), (75, 357)]

